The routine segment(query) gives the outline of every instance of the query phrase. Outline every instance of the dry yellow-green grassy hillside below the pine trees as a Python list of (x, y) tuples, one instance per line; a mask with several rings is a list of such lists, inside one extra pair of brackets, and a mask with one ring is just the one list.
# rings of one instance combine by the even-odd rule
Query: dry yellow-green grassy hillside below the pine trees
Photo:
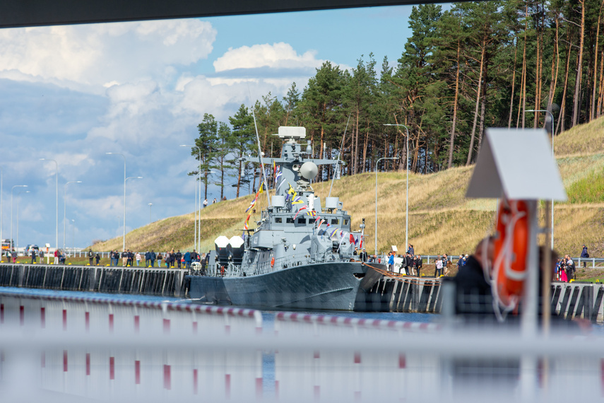
[[(593, 257), (604, 257), (604, 118), (575, 127), (556, 136), (555, 154), (568, 202), (555, 204), (555, 247), (558, 252), (579, 255), (586, 244)], [(495, 221), (494, 199), (466, 199), (473, 167), (461, 167), (430, 175), (409, 175), (409, 242), (422, 255), (459, 255), (473, 250), (478, 240), (491, 232)], [(340, 197), (358, 228), (365, 218), (367, 249), (374, 249), (374, 173), (343, 177), (333, 185), (332, 196)], [(314, 189), (321, 199), (331, 182)], [(379, 173), (378, 249), (405, 245), (405, 172)], [(213, 204), (201, 211), (201, 250), (213, 248), (218, 235), (242, 233), (244, 211), (253, 196)], [(266, 207), (266, 195), (259, 197), (256, 211)], [(540, 211), (543, 216), (543, 211)], [(253, 214), (250, 223), (259, 219)], [(253, 225), (252, 225), (253, 226)], [(191, 250), (194, 214), (165, 218), (126, 234), (132, 250)], [(122, 237), (97, 243), (95, 250), (122, 248)]]

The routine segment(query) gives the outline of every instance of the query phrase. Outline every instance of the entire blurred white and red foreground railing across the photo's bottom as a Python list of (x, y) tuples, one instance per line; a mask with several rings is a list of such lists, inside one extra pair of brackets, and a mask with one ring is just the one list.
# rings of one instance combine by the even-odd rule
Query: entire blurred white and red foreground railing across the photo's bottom
[(455, 321), (301, 313), (260, 325), (254, 310), (3, 294), (0, 396), (304, 403), (603, 397), (604, 339), (593, 334), (522, 336)]

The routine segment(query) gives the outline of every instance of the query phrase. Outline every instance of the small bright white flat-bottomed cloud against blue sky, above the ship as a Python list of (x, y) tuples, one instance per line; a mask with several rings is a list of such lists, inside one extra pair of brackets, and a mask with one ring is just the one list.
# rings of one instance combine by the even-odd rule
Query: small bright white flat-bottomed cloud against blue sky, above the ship
[(288, 43), (278, 42), (273, 45), (253, 45), (230, 48), (222, 57), (214, 62), (216, 71), (233, 69), (254, 69), (257, 67), (271, 67), (273, 69), (300, 69), (320, 67), (324, 62), (315, 58), (316, 52), (307, 51), (297, 54)]

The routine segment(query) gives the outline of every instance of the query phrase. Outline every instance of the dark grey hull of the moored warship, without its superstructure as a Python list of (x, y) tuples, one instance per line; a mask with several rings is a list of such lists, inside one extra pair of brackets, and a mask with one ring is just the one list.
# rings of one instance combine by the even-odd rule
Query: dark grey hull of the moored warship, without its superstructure
[(196, 302), (295, 310), (354, 310), (357, 294), (378, 278), (360, 262), (304, 264), (257, 276), (188, 277), (189, 297)]

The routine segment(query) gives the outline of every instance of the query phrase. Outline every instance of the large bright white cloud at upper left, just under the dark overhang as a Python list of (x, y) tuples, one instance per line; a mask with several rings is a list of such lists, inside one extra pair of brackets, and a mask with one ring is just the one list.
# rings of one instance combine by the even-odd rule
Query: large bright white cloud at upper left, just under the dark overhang
[(196, 19), (0, 30), (0, 76), (89, 90), (174, 74), (205, 59), (216, 31)]

